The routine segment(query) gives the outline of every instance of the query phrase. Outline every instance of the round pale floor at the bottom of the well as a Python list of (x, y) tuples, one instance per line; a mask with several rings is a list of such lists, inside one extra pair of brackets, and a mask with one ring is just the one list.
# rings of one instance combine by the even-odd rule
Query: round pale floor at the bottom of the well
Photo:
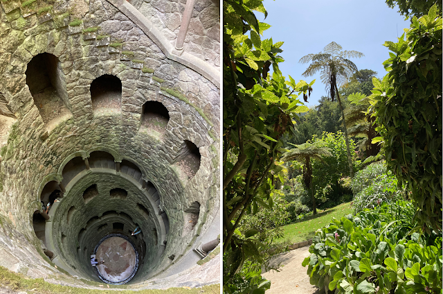
[(120, 234), (105, 236), (98, 243), (96, 250), (98, 264), (97, 275), (108, 284), (125, 284), (136, 274), (138, 254), (134, 245)]

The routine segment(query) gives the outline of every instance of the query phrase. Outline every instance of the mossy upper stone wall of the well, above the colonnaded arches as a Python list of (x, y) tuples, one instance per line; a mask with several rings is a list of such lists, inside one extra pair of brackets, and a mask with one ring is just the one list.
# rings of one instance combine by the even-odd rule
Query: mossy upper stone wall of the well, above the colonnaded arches
[[(48, 7), (36, 3), (35, 10)], [(26, 261), (30, 273), (42, 273), (48, 263), (35, 254), (41, 248), (32, 225), (42, 187), (61, 181), (60, 166), (74, 153), (111, 148), (119, 160), (140, 166), (145, 180), (161, 195), (170, 234), (156, 269), (166, 270), (204, 235), (219, 209), (219, 89), (190, 67), (167, 58), (105, 0), (90, 1), (89, 6), (83, 1), (57, 1), (42, 15), (17, 0), (2, 1), (1, 8), (0, 51), (6, 53), (0, 55), (0, 106), (17, 121), (1, 125), (6, 126), (3, 136), (8, 141), (0, 146), (0, 216), (5, 220), (0, 251)], [(94, 31), (97, 26), (100, 30)], [(72, 111), (71, 117), (55, 117), (51, 128), (39, 114), (25, 75), (28, 62), (44, 52), (60, 60), (65, 104)], [(119, 111), (93, 112), (89, 87), (104, 74), (122, 82)], [(140, 131), (146, 101), (159, 101), (169, 111), (161, 137)], [(201, 154), (192, 179), (183, 177), (174, 164), (184, 140), (194, 143)], [(199, 222), (183, 236), (183, 209), (194, 201), (201, 203)], [(170, 254), (176, 255), (174, 261), (168, 259)]]

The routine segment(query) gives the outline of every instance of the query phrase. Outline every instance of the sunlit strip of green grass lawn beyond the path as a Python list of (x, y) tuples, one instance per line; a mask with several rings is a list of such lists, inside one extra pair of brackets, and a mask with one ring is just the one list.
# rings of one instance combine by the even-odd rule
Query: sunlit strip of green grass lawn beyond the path
[(315, 235), (316, 230), (329, 224), (333, 217), (340, 219), (347, 214), (352, 214), (351, 202), (326, 209), (315, 216), (307, 216), (297, 223), (285, 225), (283, 227), (284, 236), (276, 242), (293, 244), (307, 241)]

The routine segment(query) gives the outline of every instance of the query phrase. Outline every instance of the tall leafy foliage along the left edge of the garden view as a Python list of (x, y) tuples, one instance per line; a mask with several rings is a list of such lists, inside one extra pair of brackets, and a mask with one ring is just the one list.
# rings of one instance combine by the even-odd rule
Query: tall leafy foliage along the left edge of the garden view
[[(246, 289), (240, 281), (254, 285), (257, 281), (248, 279), (247, 270), (237, 275), (245, 256), (252, 256), (248, 260), (253, 263), (264, 262), (257, 244), (244, 232), (234, 232), (246, 214), (273, 207), (273, 175), (282, 171), (274, 162), (284, 151), (282, 135), (293, 130), (297, 113), (307, 111), (298, 95), (309, 96), (314, 81), (296, 83), (282, 76), (278, 68), (283, 61), (278, 55), (282, 42), (261, 39), (270, 26), (257, 21), (253, 12), (267, 14), (261, 0), (226, 0), (223, 5), (224, 291), (234, 293), (237, 288)], [(268, 74), (271, 64), (272, 75)], [(253, 291), (248, 289), (237, 293)]]

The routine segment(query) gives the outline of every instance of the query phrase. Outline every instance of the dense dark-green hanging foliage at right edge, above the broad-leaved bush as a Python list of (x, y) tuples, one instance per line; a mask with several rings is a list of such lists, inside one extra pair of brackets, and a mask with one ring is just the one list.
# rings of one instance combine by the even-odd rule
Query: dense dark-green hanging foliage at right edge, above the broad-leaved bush
[(442, 17), (437, 6), (413, 17), (374, 78), (370, 96), (388, 169), (408, 184), (426, 229), (442, 230)]

